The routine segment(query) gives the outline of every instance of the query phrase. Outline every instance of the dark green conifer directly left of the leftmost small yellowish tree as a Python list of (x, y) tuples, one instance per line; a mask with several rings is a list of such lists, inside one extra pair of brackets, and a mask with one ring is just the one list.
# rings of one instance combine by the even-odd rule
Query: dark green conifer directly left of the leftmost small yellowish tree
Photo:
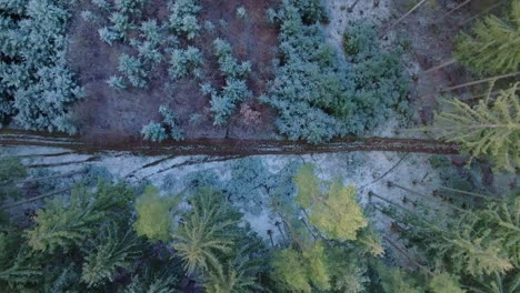
[(52, 253), (82, 246), (96, 233), (96, 226), (107, 219), (118, 220), (128, 211), (132, 190), (124, 184), (99, 183), (97, 190), (78, 185), (68, 199), (53, 199), (39, 210), (34, 226), (27, 231), (29, 245), (37, 252)]

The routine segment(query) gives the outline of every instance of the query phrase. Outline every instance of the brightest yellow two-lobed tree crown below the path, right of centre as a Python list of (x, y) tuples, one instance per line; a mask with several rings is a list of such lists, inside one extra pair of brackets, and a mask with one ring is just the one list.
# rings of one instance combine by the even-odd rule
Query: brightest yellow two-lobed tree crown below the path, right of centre
[(297, 201), (301, 208), (310, 210), (309, 221), (328, 239), (353, 241), (357, 232), (368, 225), (361, 208), (356, 202), (356, 188), (344, 186), (337, 179), (326, 183), (322, 192), (314, 166), (307, 164), (294, 176), (298, 188)]

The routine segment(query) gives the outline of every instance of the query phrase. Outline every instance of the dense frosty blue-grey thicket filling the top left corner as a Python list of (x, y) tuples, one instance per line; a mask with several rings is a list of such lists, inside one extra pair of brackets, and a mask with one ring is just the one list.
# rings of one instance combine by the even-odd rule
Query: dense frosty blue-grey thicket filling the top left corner
[(67, 67), (63, 1), (0, 3), (0, 123), (76, 133), (70, 107), (83, 97)]

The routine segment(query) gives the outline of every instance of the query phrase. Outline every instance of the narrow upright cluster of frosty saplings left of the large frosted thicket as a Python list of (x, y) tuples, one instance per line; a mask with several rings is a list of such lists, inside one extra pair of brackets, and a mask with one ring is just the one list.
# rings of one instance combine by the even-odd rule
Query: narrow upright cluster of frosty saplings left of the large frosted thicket
[(221, 90), (216, 90), (211, 84), (204, 83), (201, 90), (211, 95), (211, 111), (214, 114), (216, 125), (226, 125), (238, 103), (250, 98), (252, 92), (247, 85), (247, 75), (251, 72), (249, 61), (239, 63), (232, 55), (231, 44), (222, 39), (213, 41), (214, 54), (218, 58), (219, 70), (226, 79)]

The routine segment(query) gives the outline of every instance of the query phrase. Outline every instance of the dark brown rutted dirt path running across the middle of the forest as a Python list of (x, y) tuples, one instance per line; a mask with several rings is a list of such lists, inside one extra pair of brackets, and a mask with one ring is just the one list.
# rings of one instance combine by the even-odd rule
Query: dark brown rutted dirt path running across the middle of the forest
[(73, 150), (77, 153), (123, 151), (144, 155), (260, 155), (260, 154), (309, 154), (353, 151), (392, 151), (434, 154), (457, 154), (457, 144), (423, 139), (348, 138), (323, 144), (276, 140), (187, 140), (181, 142), (144, 143), (128, 140), (121, 143), (87, 143), (78, 138), (56, 134), (0, 131), (0, 145), (37, 145)]

